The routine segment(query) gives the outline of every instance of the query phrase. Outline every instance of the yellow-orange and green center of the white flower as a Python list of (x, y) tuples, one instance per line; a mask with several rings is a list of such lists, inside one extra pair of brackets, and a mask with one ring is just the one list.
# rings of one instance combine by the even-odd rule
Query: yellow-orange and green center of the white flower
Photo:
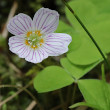
[(33, 49), (37, 49), (42, 46), (44, 39), (40, 31), (29, 31), (26, 33), (25, 44)]

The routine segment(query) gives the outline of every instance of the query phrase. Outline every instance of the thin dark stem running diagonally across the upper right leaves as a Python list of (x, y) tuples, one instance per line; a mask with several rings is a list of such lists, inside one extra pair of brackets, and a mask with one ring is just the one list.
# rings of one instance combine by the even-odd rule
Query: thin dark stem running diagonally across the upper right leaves
[(100, 47), (98, 46), (97, 42), (95, 41), (95, 39), (92, 37), (91, 33), (88, 31), (88, 29), (85, 27), (85, 25), (82, 23), (82, 21), (80, 20), (80, 18), (76, 15), (76, 13), (73, 11), (73, 9), (68, 5), (68, 3), (65, 0), (62, 0), (64, 2), (64, 4), (67, 6), (67, 8), (71, 11), (71, 13), (74, 15), (74, 17), (77, 19), (77, 21), (79, 22), (79, 24), (82, 26), (82, 28), (85, 30), (85, 32), (88, 34), (88, 36), (91, 38), (92, 42), (95, 44), (95, 46), (97, 47), (98, 51), (100, 52), (101, 56), (103, 57), (105, 63), (108, 65), (108, 68), (110, 69), (110, 65), (104, 55), (104, 53), (102, 52), (102, 50), (100, 49)]

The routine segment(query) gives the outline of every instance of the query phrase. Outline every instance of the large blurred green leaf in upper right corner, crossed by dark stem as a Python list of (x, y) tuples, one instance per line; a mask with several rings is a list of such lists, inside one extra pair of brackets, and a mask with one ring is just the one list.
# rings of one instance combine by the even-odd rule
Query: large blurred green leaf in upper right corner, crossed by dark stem
[[(105, 52), (110, 52), (110, 0), (75, 0), (69, 2), (74, 12), (87, 27), (99, 47)], [(88, 37), (84, 29), (66, 8), (66, 15), (71, 24), (83, 38)], [(92, 41), (91, 41), (92, 42)], [(92, 52), (92, 51), (91, 51)], [(94, 52), (93, 52), (94, 53)], [(90, 53), (91, 54), (91, 53)], [(84, 59), (85, 60), (85, 59)]]

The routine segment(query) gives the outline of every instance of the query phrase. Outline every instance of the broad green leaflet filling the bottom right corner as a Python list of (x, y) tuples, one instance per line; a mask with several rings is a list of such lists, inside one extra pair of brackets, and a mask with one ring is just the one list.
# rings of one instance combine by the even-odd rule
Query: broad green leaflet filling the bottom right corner
[[(106, 83), (107, 87), (110, 90), (110, 85)], [(109, 110), (107, 104), (107, 97), (110, 97), (110, 92), (107, 94), (108, 96), (105, 97), (105, 92), (101, 80), (94, 80), (94, 79), (86, 79), (86, 80), (79, 80), (78, 82), (79, 89), (84, 96), (84, 99), (87, 103), (91, 105), (97, 105), (101, 109), (100, 110)], [(107, 89), (107, 88), (106, 88)]]

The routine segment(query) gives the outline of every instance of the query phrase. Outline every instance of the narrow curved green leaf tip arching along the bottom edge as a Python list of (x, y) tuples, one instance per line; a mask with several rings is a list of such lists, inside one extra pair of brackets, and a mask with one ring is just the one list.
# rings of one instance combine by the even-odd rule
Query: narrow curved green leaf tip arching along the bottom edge
[(100, 107), (99, 106), (97, 106), (97, 105), (91, 105), (91, 104), (86, 103), (86, 102), (79, 102), (79, 103), (73, 104), (69, 108), (76, 108), (78, 106), (88, 106), (88, 107), (96, 108), (96, 109), (100, 110)]

